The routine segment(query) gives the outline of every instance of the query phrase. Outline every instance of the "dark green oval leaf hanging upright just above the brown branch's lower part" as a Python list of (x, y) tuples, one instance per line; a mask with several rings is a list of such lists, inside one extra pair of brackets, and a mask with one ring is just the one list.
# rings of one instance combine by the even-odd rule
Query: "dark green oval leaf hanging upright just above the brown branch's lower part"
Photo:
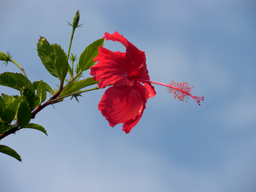
[(18, 113), (17, 113), (17, 121), (20, 126), (26, 125), (29, 123), (31, 119), (31, 109), (28, 106), (25, 100), (21, 101)]

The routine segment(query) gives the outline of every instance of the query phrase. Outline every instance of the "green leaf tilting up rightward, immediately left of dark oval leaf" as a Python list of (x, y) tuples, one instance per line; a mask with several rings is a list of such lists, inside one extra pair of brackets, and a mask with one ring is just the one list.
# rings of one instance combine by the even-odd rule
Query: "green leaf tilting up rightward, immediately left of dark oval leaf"
[(3, 121), (7, 123), (11, 123), (12, 120), (14, 119), (18, 107), (20, 105), (20, 102), (22, 101), (22, 97), (19, 97), (18, 99), (13, 100), (5, 109), (4, 114), (3, 114)]

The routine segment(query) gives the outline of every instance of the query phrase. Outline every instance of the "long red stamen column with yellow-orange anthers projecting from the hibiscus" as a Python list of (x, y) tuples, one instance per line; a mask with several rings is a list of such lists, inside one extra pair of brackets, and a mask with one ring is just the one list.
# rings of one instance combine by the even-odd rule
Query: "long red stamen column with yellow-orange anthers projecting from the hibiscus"
[(185, 82), (182, 82), (182, 83), (176, 83), (176, 82), (173, 82), (172, 80), (172, 83), (170, 84), (164, 84), (164, 83), (158, 83), (158, 82), (155, 82), (155, 81), (149, 81), (149, 80), (145, 80), (145, 79), (131, 79), (131, 80), (135, 80), (135, 81), (139, 81), (139, 82), (142, 82), (142, 83), (153, 83), (153, 84), (159, 84), (159, 85), (164, 85), (167, 87), (168, 89), (168, 92), (172, 92), (174, 94), (174, 98), (178, 98), (179, 100), (181, 101), (185, 101), (187, 102), (188, 100), (188, 96), (192, 97), (197, 103), (198, 105), (200, 105), (200, 100), (204, 100), (204, 97), (196, 97), (194, 95), (191, 95), (190, 94), (190, 91), (192, 90), (192, 88), (194, 88), (193, 86), (192, 87), (189, 87), (190, 84), (188, 83), (185, 83)]

